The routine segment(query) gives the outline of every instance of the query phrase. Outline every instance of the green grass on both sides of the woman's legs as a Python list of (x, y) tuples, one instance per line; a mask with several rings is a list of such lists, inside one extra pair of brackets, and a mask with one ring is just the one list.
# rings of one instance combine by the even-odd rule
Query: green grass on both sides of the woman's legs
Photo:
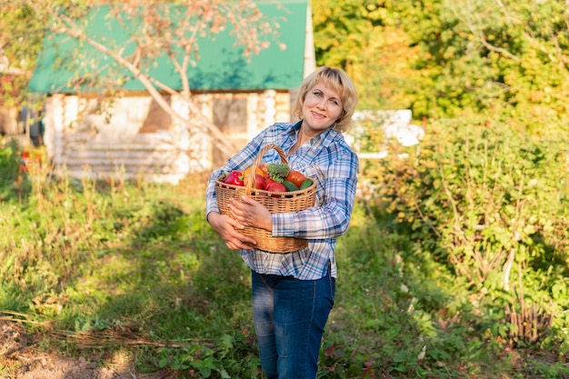
[[(40, 184), (12, 173), (0, 192), (0, 314), (37, 349), (98, 364), (125, 354), (146, 374), (263, 377), (249, 270), (206, 223), (203, 181)], [(498, 294), (469, 288), (363, 203), (337, 261), (320, 377), (569, 375), (552, 342), (564, 330), (506, 349)]]

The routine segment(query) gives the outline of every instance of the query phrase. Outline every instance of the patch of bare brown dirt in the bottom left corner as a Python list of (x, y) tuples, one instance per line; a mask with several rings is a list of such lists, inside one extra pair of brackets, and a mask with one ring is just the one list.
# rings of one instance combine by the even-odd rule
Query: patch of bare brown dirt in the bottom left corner
[[(142, 379), (127, 359), (97, 367), (85, 357), (45, 354), (29, 346), (24, 327), (0, 317), (0, 379)], [(145, 376), (145, 379), (151, 379)]]

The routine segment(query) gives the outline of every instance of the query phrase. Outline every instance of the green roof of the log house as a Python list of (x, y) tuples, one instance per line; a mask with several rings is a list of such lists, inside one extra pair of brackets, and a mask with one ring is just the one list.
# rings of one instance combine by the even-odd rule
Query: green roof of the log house
[[(298, 87), (304, 77), (307, 2), (308, 0), (255, 2), (263, 15), (270, 20), (276, 20), (279, 25), (275, 28), (278, 43), (271, 40), (270, 47), (258, 55), (244, 56), (245, 48), (236, 44), (235, 36), (230, 35), (230, 28), (218, 35), (201, 37), (198, 41), (200, 58), (196, 65), (190, 65), (187, 71), (190, 88), (265, 90)], [(125, 41), (130, 37), (129, 32), (114, 16), (109, 16), (109, 6), (98, 5), (86, 15), (85, 31), (91, 38), (105, 45), (125, 45)], [(286, 46), (284, 50), (279, 46), (280, 43)], [(133, 52), (134, 45), (125, 46), (126, 53), (129, 49)], [(69, 62), (81, 62), (86, 65), (77, 70), (70, 68)], [(76, 64), (73, 66), (76, 67)], [(122, 85), (125, 90), (145, 91), (144, 85), (135, 80), (132, 74), (118, 66), (109, 56), (95, 50), (95, 47), (68, 35), (50, 34), (45, 35), (44, 45), (28, 86), (32, 92), (75, 93), (77, 89), (70, 83), (97, 71), (100, 72), (100, 78), (126, 77)], [(152, 77), (170, 88), (182, 89), (180, 75), (175, 72), (168, 57), (156, 59), (149, 72)], [(95, 88), (83, 85), (81, 90), (94, 91)]]

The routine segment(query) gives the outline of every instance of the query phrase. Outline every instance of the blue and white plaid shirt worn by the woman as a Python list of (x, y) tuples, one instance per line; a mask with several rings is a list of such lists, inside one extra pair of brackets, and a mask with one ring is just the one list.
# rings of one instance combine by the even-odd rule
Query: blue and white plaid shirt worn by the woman
[[(264, 146), (275, 144), (286, 154), (296, 142), (301, 123), (276, 123), (267, 127), (215, 170), (206, 189), (206, 214), (219, 212), (215, 197), (215, 179), (223, 172), (243, 171), (253, 165)], [(300, 280), (320, 279), (328, 262), (336, 277), (334, 249), (336, 238), (345, 233), (354, 207), (358, 159), (344, 141), (344, 135), (328, 129), (287, 156), (291, 170), (316, 179), (316, 204), (300, 212), (273, 214), (273, 236), (308, 240), (308, 246), (288, 254), (271, 254), (262, 250), (242, 250), (241, 255), (259, 274), (294, 276)], [(275, 149), (263, 158), (265, 163), (281, 163)]]

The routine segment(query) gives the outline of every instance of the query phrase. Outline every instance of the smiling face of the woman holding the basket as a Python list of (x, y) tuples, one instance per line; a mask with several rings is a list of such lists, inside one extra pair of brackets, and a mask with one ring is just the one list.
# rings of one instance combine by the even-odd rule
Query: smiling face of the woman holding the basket
[(309, 135), (319, 135), (342, 115), (344, 105), (333, 87), (317, 83), (304, 96), (303, 126)]

